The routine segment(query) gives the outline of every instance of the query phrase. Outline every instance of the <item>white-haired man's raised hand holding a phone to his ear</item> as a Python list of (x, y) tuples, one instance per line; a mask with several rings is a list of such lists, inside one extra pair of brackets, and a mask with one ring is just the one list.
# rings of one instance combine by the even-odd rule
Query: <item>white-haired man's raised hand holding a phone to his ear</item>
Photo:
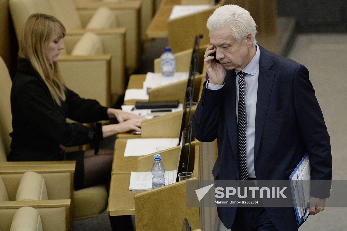
[(204, 63), (206, 66), (206, 71), (207, 74), (209, 75), (210, 78), (210, 83), (214, 85), (223, 85), (225, 75), (227, 74), (227, 70), (221, 63), (217, 63), (214, 61), (215, 55), (215, 50), (213, 46), (209, 46), (204, 55)]

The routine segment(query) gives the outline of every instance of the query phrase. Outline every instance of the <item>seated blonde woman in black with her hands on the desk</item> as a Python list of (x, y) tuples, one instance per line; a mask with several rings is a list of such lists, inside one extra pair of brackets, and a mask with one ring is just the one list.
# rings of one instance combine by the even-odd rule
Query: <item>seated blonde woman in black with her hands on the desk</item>
[[(60, 144), (97, 146), (99, 140), (118, 132), (141, 131), (145, 118), (82, 99), (64, 85), (57, 63), (64, 36), (64, 26), (53, 16), (33, 14), (26, 22), (11, 89), (13, 132), (8, 161), (76, 160), (77, 190), (110, 178), (113, 150), (101, 149), (98, 155), (94, 150), (64, 153)], [(67, 123), (66, 118), (78, 122)], [(82, 125), (112, 118), (119, 123)]]

